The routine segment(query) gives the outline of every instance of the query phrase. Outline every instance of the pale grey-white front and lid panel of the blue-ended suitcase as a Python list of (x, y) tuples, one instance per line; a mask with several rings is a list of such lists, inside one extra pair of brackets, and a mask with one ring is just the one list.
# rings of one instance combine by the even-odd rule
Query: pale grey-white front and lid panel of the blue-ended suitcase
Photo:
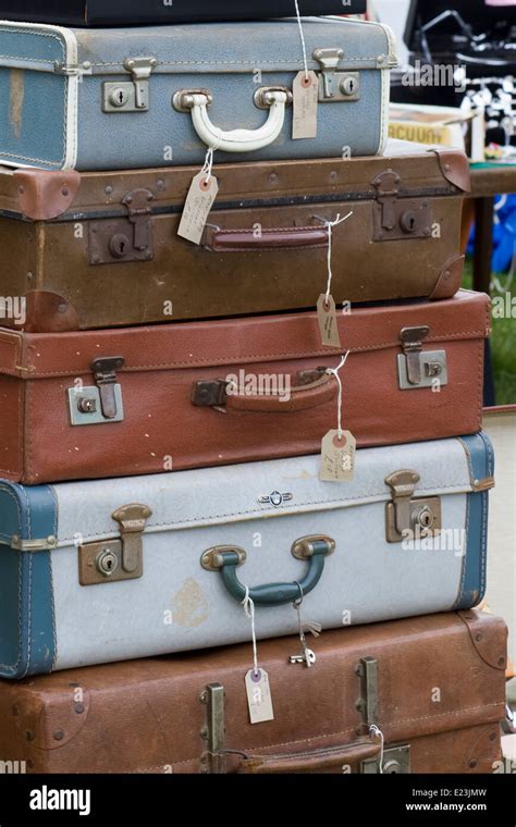
[[(458, 440), (360, 452), (348, 484), (319, 480), (319, 458), (243, 465), (137, 480), (56, 485), (60, 547), (51, 553), (57, 668), (167, 654), (250, 640), (242, 606), (219, 573), (200, 565), (218, 545), (246, 550), (246, 585), (298, 581), (306, 564), (293, 543), (323, 534), (336, 541), (306, 610), (324, 629), (450, 610), (460, 591), (458, 550), (418, 550), (385, 540), (385, 478), (411, 468), (418, 496), (440, 495), (443, 528), (467, 526), (469, 468)], [(281, 507), (260, 504), (279, 491)], [(137, 492), (137, 496), (135, 494)], [(144, 577), (81, 587), (76, 545), (116, 536), (111, 515), (134, 502), (152, 509), (143, 538)], [(85, 507), (85, 504), (86, 507)], [(258, 540), (257, 540), (258, 538)], [(78, 539), (78, 540), (77, 540)], [(483, 555), (471, 539), (468, 553)], [(480, 591), (480, 584), (479, 584)], [(170, 624), (162, 618), (172, 613)], [(257, 608), (259, 639), (294, 633), (292, 606)]]

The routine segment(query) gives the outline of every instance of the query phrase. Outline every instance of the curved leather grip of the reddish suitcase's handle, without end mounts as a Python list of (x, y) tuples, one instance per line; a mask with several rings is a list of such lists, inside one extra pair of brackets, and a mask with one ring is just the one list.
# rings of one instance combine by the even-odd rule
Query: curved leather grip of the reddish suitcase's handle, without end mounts
[(280, 394), (260, 396), (229, 394), (226, 407), (230, 410), (250, 414), (295, 414), (332, 402), (336, 397), (337, 391), (339, 385), (334, 378), (324, 373), (317, 382), (292, 387), (290, 399), (283, 399)]

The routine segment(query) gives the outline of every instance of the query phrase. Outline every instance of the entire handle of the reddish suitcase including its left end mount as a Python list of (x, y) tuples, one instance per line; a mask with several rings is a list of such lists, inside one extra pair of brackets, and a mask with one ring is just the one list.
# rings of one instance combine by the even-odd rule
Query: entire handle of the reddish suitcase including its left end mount
[(295, 414), (310, 410), (335, 399), (339, 385), (334, 377), (321, 368), (314, 374), (320, 379), (308, 384), (285, 387), (283, 392), (246, 393), (236, 383), (230, 381), (195, 382), (192, 391), (192, 404), (196, 407), (225, 407), (249, 414)]

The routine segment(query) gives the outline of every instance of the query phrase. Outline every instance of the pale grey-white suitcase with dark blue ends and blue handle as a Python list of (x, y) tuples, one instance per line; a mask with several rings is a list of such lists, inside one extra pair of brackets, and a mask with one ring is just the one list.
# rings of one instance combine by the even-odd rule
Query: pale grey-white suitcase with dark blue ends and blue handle
[(318, 456), (0, 483), (0, 675), (249, 641), (245, 587), (260, 640), (296, 633), (302, 595), (323, 632), (471, 608), (493, 461), (481, 433), (361, 449), (345, 483)]

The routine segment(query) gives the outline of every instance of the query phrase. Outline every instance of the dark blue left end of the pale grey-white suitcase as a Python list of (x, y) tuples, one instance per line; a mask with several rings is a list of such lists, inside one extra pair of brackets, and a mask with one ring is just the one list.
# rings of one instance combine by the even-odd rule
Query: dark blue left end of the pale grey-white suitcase
[[(58, 507), (49, 485), (26, 487), (0, 481), (0, 536), (10, 542), (58, 533)], [(0, 676), (50, 672), (56, 662), (51, 552), (0, 546)]]

